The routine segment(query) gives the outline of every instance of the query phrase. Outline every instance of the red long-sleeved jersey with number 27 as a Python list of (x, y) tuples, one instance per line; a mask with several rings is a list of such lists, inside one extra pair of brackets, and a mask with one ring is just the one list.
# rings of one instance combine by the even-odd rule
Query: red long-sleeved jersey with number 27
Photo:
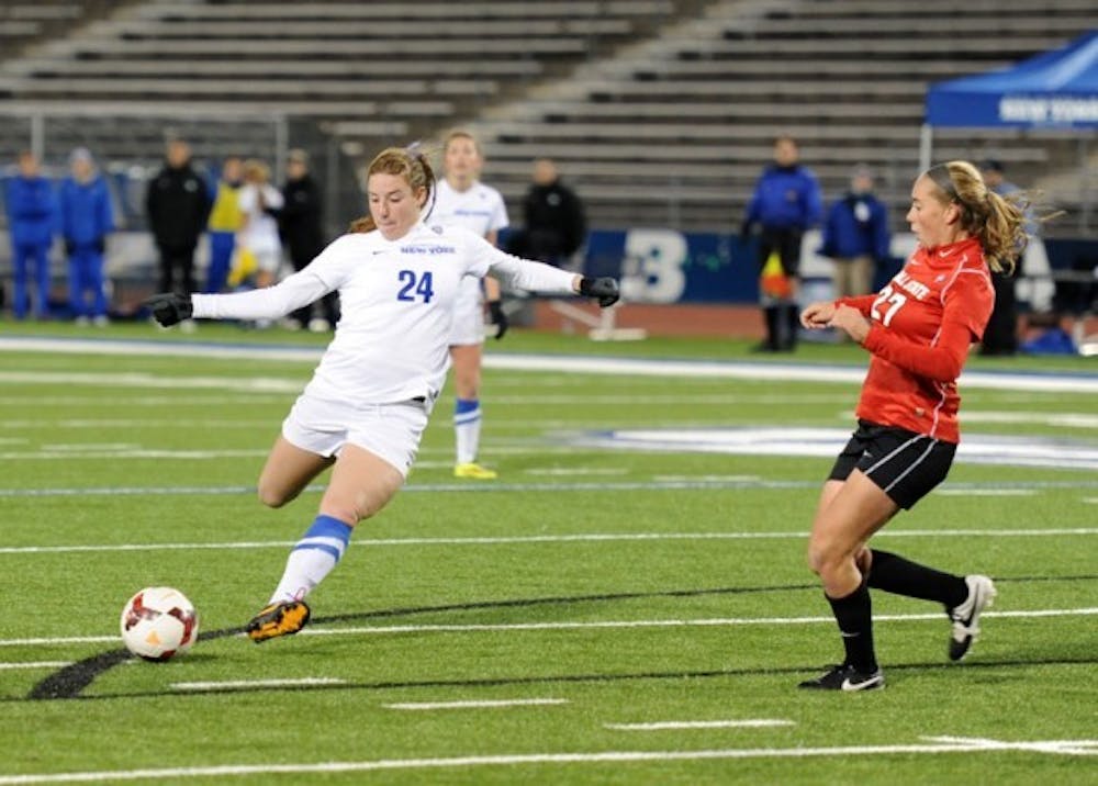
[(872, 322), (858, 417), (957, 442), (956, 379), (995, 305), (979, 242), (919, 247), (881, 292), (836, 303)]

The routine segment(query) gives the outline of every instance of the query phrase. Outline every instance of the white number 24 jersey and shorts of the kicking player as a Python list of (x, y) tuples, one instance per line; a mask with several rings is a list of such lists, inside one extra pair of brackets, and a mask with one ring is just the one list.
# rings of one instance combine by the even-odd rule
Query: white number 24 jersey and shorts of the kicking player
[(446, 380), (462, 281), (479, 284), (490, 271), (516, 289), (574, 291), (574, 273), (513, 257), (461, 227), (419, 223), (399, 240), (377, 231), (344, 235), (274, 287), (195, 294), (193, 316), (273, 319), (338, 290), (335, 336), (282, 436), (321, 456), (350, 442), (406, 474)]

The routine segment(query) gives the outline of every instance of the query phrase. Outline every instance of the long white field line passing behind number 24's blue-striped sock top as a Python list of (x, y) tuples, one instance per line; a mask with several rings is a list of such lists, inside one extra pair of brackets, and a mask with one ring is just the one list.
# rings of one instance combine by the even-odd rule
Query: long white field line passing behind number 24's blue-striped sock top
[[(1093, 536), (1098, 527), (1049, 529), (927, 529), (882, 530), (874, 538), (1044, 538), (1054, 536)], [(516, 535), (470, 538), (360, 538), (352, 546), (371, 549), (381, 546), (507, 546), (520, 543), (585, 543), (659, 540), (800, 540), (808, 532), (587, 532), (576, 535)], [(111, 543), (86, 546), (5, 546), (0, 554), (59, 554), (85, 551), (186, 551), (217, 549), (273, 549), (293, 546), (291, 540), (265, 540), (214, 543)]]

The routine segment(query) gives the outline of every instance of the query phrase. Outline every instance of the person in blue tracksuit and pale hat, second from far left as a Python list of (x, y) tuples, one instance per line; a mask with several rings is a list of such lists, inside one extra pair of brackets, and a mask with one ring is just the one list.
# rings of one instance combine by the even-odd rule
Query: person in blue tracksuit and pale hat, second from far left
[[(114, 231), (107, 181), (91, 154), (78, 147), (69, 157), (71, 175), (60, 188), (60, 228), (69, 261), (69, 306), (78, 324), (107, 324), (103, 255)], [(89, 303), (89, 295), (91, 302)]]

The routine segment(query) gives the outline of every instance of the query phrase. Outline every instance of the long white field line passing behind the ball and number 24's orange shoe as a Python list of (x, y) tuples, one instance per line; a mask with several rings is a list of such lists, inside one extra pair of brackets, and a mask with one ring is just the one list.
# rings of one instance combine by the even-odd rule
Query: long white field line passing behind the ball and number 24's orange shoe
[[(985, 611), (986, 618), (1029, 619), (1041, 617), (1094, 617), (1094, 608), (1039, 608), (1015, 611)], [(877, 622), (940, 622), (940, 613), (884, 614), (874, 616)], [(706, 619), (612, 619), (585, 622), (501, 622), (495, 625), (390, 625), (356, 628), (305, 628), (298, 636), (392, 636), (399, 633), (471, 633), (502, 630), (590, 630), (600, 628), (707, 628), (748, 625), (834, 625), (834, 617), (715, 617)], [(240, 633), (243, 636), (243, 633)], [(82, 636), (34, 639), (0, 639), (0, 647), (44, 647), (51, 644), (121, 643), (115, 636)], [(255, 683), (249, 683), (255, 684)]]

